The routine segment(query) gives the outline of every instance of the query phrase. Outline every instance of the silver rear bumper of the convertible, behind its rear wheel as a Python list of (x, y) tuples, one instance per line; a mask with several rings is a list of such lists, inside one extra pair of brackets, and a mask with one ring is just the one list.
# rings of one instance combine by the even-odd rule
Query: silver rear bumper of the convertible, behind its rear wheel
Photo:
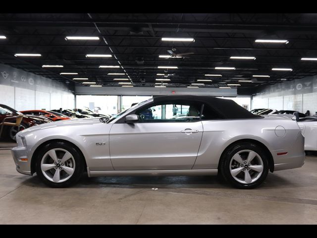
[(305, 163), (304, 145), (305, 138), (299, 132), (294, 144), (286, 150), (286, 155), (277, 155), (278, 152), (284, 152), (285, 150), (271, 151), (274, 160), (274, 171), (302, 167)]

